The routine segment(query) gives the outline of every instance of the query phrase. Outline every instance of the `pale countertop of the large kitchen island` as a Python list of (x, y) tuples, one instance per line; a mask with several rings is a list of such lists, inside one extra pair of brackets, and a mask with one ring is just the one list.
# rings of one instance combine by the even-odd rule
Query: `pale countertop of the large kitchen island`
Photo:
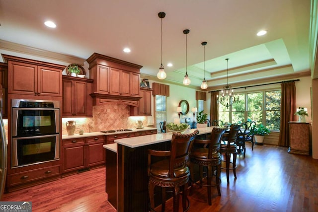
[[(198, 135), (207, 134), (212, 132), (214, 127), (205, 127), (205, 128), (198, 128), (198, 129), (191, 129), (189, 132), (182, 132), (182, 133), (192, 133), (195, 130), (199, 130)], [(132, 137), (132, 138), (125, 138), (125, 139), (116, 139), (114, 140), (115, 143), (128, 146), (130, 148), (136, 148), (140, 146), (146, 146), (150, 144), (160, 143), (164, 141), (171, 141), (172, 133), (159, 133), (159, 134), (152, 134), (146, 136), (139, 136), (139, 137)]]

